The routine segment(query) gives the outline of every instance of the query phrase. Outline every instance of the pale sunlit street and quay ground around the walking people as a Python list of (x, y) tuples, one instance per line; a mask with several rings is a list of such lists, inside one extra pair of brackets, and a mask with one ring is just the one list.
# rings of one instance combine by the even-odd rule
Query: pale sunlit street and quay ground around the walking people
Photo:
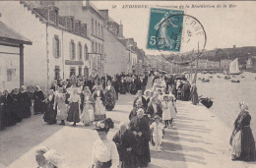
[[(128, 122), (134, 95), (120, 95), (115, 109), (107, 112), (117, 131), (120, 121)], [(150, 168), (185, 167), (255, 167), (255, 162), (230, 160), (228, 146), (231, 130), (204, 106), (177, 102), (178, 115), (171, 130), (166, 130), (162, 152), (151, 146)], [(1, 132), (0, 162), (10, 168), (36, 167), (34, 150), (40, 145), (56, 149), (65, 158), (67, 167), (85, 168), (90, 165), (93, 143), (98, 139), (94, 126), (76, 128), (46, 125), (42, 115), (32, 116)], [(217, 129), (218, 128), (218, 129)]]

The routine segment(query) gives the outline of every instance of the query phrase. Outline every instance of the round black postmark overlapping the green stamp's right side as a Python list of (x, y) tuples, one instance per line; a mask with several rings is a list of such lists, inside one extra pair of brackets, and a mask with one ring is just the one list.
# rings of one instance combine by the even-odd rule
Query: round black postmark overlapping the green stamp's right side
[(187, 64), (200, 57), (205, 50), (207, 35), (203, 25), (186, 14), (165, 15), (157, 28), (159, 51), (169, 52), (169, 62)]

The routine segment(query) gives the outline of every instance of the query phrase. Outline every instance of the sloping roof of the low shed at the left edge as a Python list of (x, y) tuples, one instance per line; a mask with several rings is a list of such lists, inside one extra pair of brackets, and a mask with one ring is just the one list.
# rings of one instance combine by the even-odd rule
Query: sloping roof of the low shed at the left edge
[(13, 43), (20, 44), (30, 44), (32, 45), (32, 41), (22, 34), (18, 33), (13, 28), (6, 26), (4, 23), (0, 21), (0, 40), (9, 41)]

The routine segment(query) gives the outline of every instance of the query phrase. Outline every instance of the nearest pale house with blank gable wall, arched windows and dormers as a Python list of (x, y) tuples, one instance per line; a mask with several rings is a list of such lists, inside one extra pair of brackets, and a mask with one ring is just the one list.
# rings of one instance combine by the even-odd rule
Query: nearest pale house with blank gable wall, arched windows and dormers
[(0, 11), (1, 21), (32, 40), (32, 46), (24, 50), (26, 85), (45, 89), (54, 80), (88, 76), (91, 40), (76, 17), (33, 1), (1, 1)]

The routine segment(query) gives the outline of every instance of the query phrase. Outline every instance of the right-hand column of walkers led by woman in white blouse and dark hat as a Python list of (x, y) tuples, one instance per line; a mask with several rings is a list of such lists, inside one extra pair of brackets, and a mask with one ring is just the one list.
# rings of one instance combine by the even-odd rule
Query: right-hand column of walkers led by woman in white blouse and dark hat
[[(154, 83), (155, 78), (158, 77), (153, 76)], [(164, 79), (164, 76), (160, 78)], [(148, 167), (151, 162), (150, 143), (161, 151), (164, 128), (171, 128), (177, 112), (175, 95), (167, 89), (161, 91), (155, 86), (144, 91), (138, 89), (129, 114), (130, 122), (121, 122), (112, 140), (107, 140), (107, 133), (113, 128), (111, 119), (96, 123), (99, 140), (94, 144), (92, 167)]]

